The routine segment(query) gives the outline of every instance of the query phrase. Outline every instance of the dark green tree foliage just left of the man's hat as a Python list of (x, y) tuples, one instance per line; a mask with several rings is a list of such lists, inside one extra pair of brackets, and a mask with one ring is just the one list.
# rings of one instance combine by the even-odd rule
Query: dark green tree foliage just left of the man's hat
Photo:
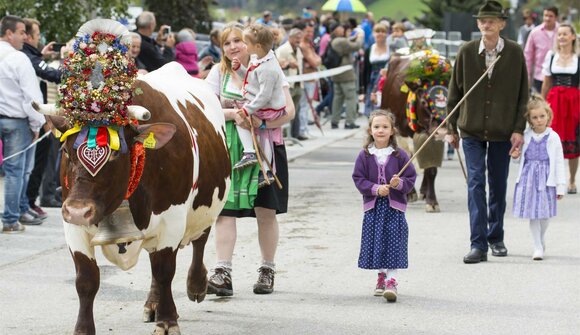
[(417, 22), (433, 30), (443, 30), (445, 13), (475, 13), (481, 7), (481, 0), (422, 0), (428, 9)]

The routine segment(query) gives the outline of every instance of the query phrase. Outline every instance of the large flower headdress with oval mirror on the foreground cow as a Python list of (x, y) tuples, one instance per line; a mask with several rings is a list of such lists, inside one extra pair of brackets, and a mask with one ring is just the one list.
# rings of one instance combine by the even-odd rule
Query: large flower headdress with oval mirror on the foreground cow
[(71, 126), (129, 124), (127, 106), (137, 68), (114, 34), (79, 37), (64, 61), (59, 104)]

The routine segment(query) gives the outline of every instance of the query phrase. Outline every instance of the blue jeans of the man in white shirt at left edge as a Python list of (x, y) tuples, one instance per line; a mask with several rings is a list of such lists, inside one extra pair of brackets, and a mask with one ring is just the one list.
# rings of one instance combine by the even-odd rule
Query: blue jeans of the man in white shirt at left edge
[[(24, 150), (32, 143), (28, 119), (0, 118), (0, 138), (4, 144), (4, 157)], [(30, 209), (26, 188), (34, 167), (34, 147), (4, 161), (4, 213), (2, 223), (13, 224), (20, 214)]]

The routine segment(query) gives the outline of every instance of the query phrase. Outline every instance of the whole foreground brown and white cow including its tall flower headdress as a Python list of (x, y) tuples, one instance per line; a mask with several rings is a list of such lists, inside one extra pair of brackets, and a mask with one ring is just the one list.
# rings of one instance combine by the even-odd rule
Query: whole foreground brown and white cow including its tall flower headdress
[[(204, 299), (203, 253), (228, 194), (224, 114), (205, 82), (177, 63), (145, 76), (127, 54), (128, 31), (112, 20), (83, 25), (64, 62), (60, 106), (36, 105), (62, 136), (64, 231), (76, 268), (75, 334), (95, 334), (95, 246), (126, 270), (149, 252), (144, 321), (180, 334), (171, 293), (176, 255), (193, 245), (187, 293)], [(51, 107), (51, 108), (50, 108)]]

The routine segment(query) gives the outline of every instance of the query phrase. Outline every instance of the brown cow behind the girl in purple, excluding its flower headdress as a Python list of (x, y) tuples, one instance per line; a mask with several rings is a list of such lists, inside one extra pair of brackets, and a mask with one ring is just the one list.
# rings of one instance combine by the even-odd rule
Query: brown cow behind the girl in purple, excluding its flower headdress
[[(383, 86), (381, 108), (390, 109), (395, 114), (399, 134), (403, 137), (413, 138), (414, 147), (417, 149), (425, 142), (428, 135), (437, 128), (440, 122), (434, 118), (434, 114), (430, 110), (429, 103), (425, 99), (424, 89), (416, 84), (405, 82), (407, 68), (413, 57), (416, 56), (414, 54), (409, 56), (397, 55), (391, 58), (387, 80)], [(406, 90), (402, 90), (402, 87), (408, 88), (417, 95), (415, 107), (418, 129), (416, 131), (413, 131), (407, 122), (406, 104), (408, 93)], [(443, 135), (441, 134), (440, 137)], [(440, 211), (437, 195), (435, 194), (435, 177), (437, 176), (437, 168), (441, 167), (443, 161), (443, 147), (442, 141), (431, 141), (417, 157), (420, 168), (424, 169), (419, 193), (421, 198), (425, 198), (426, 212)], [(409, 201), (417, 199), (415, 189), (409, 193), (408, 198)]]

